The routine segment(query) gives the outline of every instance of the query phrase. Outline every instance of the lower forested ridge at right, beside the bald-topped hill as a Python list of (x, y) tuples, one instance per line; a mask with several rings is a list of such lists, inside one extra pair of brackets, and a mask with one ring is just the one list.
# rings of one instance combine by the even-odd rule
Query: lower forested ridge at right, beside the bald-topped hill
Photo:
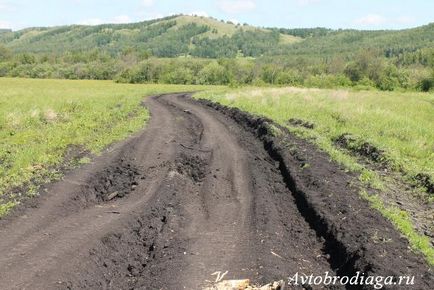
[[(434, 47), (434, 23), (403, 30), (331, 30), (313, 29), (275, 29), (275, 31), (305, 40), (292, 45), (281, 54), (324, 57), (341, 55), (351, 58), (361, 49), (370, 49), (373, 53), (386, 58), (401, 57), (405, 64), (415, 62), (415, 58), (424, 58), (428, 50)], [(422, 62), (420, 59), (419, 62)]]

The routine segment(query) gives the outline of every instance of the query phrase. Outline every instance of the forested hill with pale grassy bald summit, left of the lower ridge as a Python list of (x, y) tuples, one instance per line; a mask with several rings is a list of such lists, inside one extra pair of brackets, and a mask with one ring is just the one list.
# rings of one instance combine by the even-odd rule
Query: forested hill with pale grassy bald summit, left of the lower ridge
[(157, 57), (257, 57), (300, 38), (213, 18), (171, 16), (131, 24), (28, 28), (0, 34), (14, 52), (63, 54), (98, 48), (116, 55), (130, 49)]

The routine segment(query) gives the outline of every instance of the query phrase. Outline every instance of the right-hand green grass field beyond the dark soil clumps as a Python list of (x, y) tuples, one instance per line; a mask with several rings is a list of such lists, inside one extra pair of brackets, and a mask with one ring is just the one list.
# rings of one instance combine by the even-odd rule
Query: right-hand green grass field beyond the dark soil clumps
[[(351, 133), (386, 152), (393, 168), (434, 179), (434, 95), (299, 88), (244, 88), (203, 92), (223, 104), (268, 116), (282, 125), (290, 118), (313, 122), (297, 129), (330, 143)], [(293, 128), (295, 129), (295, 128)]]

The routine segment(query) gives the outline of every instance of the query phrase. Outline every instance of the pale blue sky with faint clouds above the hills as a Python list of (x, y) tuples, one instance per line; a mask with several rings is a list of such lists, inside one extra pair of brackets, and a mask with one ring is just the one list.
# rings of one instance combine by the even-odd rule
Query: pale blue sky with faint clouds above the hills
[(198, 14), (265, 27), (398, 29), (434, 22), (432, 0), (0, 0), (0, 28)]

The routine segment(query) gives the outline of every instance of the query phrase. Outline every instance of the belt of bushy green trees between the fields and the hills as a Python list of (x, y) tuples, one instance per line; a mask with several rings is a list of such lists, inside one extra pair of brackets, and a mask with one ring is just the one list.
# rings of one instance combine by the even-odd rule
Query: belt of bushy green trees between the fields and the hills
[[(434, 87), (434, 50), (426, 66), (400, 66), (375, 50), (352, 59), (323, 61), (307, 57), (158, 58), (127, 49), (118, 57), (92, 50), (62, 56), (14, 54), (0, 46), (0, 76), (115, 80), (124, 83), (207, 85), (291, 85), (319, 88), (358, 87), (429, 91)], [(410, 56), (409, 56), (410, 57)]]

